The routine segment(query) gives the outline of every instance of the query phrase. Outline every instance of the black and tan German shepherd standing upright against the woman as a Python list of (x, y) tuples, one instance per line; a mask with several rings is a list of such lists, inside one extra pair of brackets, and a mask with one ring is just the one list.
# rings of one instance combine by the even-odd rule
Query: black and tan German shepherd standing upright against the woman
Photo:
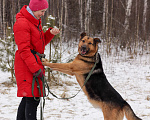
[[(82, 33), (78, 45), (79, 54), (70, 63), (49, 63), (42, 59), (43, 65), (50, 67), (69, 75), (75, 75), (78, 83), (82, 87), (84, 81), (96, 62), (96, 53), (100, 39), (91, 38)], [(104, 120), (123, 120), (124, 115), (128, 120), (141, 120), (133, 112), (130, 105), (121, 97), (121, 95), (108, 82), (100, 58), (97, 55), (98, 62), (90, 76), (88, 82), (82, 88), (88, 100), (95, 107), (102, 109)]]

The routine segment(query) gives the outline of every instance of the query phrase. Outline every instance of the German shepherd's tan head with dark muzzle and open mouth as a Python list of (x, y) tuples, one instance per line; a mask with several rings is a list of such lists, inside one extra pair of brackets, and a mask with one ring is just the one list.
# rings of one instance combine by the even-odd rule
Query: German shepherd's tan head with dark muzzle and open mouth
[(82, 56), (92, 57), (98, 50), (98, 43), (101, 43), (99, 38), (92, 38), (82, 33), (78, 45), (78, 52)]

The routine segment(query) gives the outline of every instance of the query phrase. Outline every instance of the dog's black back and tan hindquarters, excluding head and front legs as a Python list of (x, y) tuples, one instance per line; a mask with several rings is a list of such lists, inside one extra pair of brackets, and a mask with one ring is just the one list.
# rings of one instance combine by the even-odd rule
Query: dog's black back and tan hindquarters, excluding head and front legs
[[(90, 79), (85, 85), (89, 100), (94, 101), (94, 106), (102, 109), (105, 120), (122, 120), (124, 114), (128, 120), (141, 120), (108, 82), (99, 54), (98, 61)], [(86, 77), (87, 74), (85, 74)]]

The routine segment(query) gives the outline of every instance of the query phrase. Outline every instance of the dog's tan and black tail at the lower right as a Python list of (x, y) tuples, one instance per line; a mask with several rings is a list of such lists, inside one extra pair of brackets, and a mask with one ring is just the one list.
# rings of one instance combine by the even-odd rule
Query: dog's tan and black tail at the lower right
[(141, 118), (137, 117), (133, 112), (131, 106), (126, 102), (126, 105), (123, 108), (125, 116), (127, 120), (142, 120)]

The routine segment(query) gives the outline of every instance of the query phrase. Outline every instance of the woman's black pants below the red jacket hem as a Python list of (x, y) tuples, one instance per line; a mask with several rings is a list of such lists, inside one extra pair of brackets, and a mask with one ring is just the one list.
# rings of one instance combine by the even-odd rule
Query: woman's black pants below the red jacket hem
[(17, 120), (37, 120), (37, 106), (39, 101), (34, 100), (33, 97), (23, 97), (18, 107)]

